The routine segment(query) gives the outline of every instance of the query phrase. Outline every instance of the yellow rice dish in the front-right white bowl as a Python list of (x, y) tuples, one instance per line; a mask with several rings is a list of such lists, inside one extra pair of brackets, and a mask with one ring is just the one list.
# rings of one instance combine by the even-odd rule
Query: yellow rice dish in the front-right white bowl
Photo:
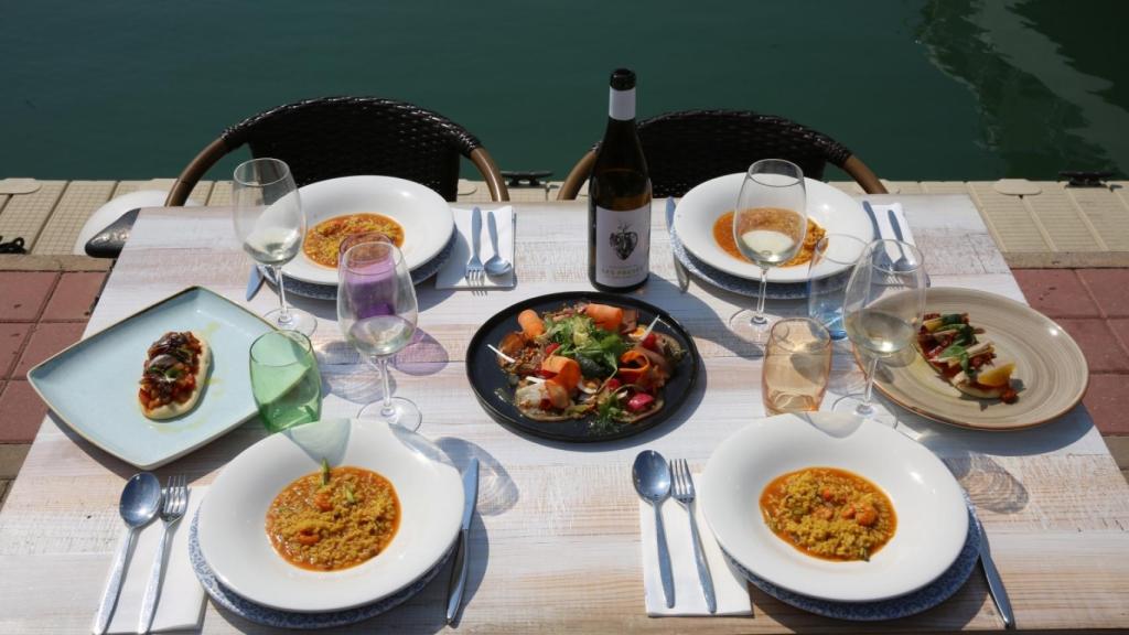
[(761, 494), (769, 529), (804, 554), (868, 560), (894, 536), (890, 498), (865, 478), (835, 468), (806, 468), (772, 480)]

